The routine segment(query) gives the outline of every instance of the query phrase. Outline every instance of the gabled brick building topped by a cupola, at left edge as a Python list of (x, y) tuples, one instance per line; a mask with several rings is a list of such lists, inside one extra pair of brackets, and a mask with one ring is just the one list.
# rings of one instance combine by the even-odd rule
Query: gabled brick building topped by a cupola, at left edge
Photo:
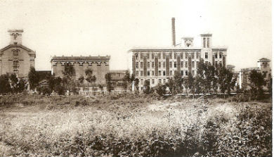
[(8, 30), (11, 42), (0, 49), (0, 75), (15, 73), (20, 79), (27, 79), (30, 67), (34, 67), (36, 52), (22, 45), (23, 30)]

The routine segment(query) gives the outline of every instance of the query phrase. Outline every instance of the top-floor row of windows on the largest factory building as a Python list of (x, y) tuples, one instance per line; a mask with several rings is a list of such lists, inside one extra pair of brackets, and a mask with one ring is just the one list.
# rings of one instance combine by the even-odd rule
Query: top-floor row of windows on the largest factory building
[[(155, 56), (158, 56), (158, 58), (166, 58), (166, 54), (168, 54), (169, 55), (169, 58), (172, 58), (172, 56), (174, 56), (174, 58), (177, 58), (178, 56), (180, 56), (180, 58), (181, 59), (183, 59), (183, 52), (181, 52), (181, 53), (173, 53), (173, 55), (172, 55), (172, 53), (152, 53), (152, 54), (148, 54), (148, 58), (152, 58), (152, 59), (154, 59), (155, 58)], [(199, 54), (199, 52), (196, 52), (196, 58), (198, 59), (200, 56), (199, 56), (200, 54)], [(194, 52), (191, 52), (191, 53), (187, 53), (187, 52), (185, 52), (185, 59), (187, 59), (188, 58), (188, 56), (191, 56), (191, 58), (195, 58), (195, 53)], [(138, 60), (138, 58), (139, 58), (139, 55), (138, 55), (138, 53), (136, 53), (135, 54), (135, 57), (136, 57), (136, 60)], [(143, 59), (143, 53), (140, 53), (140, 58), (141, 59)]]

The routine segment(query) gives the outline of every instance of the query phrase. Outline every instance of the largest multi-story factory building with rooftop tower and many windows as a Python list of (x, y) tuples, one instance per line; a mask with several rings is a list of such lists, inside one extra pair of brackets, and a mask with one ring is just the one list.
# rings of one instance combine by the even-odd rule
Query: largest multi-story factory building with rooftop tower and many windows
[(227, 48), (213, 47), (212, 34), (201, 34), (202, 47), (193, 46), (192, 37), (182, 38), (181, 44), (169, 48), (136, 48), (129, 50), (132, 56), (132, 69), (139, 80), (139, 90), (143, 90), (145, 80), (150, 81), (150, 87), (158, 83), (166, 83), (174, 73), (188, 77), (191, 73), (197, 75), (197, 65), (200, 61), (211, 65), (227, 63)]

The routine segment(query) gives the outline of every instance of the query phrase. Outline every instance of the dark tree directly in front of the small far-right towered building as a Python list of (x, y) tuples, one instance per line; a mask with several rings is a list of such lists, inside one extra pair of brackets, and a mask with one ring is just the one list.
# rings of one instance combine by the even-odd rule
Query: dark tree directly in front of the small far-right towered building
[(252, 70), (249, 75), (251, 93), (255, 99), (261, 99), (263, 96), (263, 85), (266, 85), (264, 78), (265, 75), (257, 72), (256, 70)]

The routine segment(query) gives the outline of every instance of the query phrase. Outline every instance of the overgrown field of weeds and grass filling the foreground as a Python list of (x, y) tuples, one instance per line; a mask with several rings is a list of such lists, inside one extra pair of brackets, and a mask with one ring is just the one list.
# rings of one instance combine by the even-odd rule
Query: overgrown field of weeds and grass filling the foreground
[(0, 96), (0, 156), (271, 156), (272, 104)]

